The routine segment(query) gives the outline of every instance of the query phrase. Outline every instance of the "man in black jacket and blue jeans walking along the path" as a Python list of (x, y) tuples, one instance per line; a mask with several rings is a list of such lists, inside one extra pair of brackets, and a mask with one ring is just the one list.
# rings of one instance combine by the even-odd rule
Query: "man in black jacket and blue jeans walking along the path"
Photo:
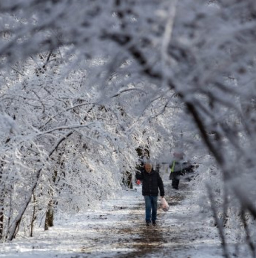
[(155, 226), (157, 196), (159, 191), (162, 198), (165, 196), (163, 180), (159, 176), (159, 173), (153, 170), (152, 165), (148, 162), (144, 164), (144, 168), (141, 170), (140, 173), (136, 173), (136, 179), (142, 180), (142, 195), (145, 199), (146, 225), (149, 226), (152, 221), (152, 225)]

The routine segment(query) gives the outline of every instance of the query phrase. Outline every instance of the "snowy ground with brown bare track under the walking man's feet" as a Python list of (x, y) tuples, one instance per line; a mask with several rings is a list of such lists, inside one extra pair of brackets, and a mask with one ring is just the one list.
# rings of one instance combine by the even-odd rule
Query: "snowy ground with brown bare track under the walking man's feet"
[(196, 193), (190, 184), (181, 181), (177, 191), (165, 181), (170, 210), (158, 209), (156, 227), (145, 226), (139, 186), (137, 191), (123, 191), (99, 210), (56, 221), (33, 238), (18, 236), (0, 244), (0, 257), (222, 257), (216, 228), (198, 213), (197, 205), (190, 205)]

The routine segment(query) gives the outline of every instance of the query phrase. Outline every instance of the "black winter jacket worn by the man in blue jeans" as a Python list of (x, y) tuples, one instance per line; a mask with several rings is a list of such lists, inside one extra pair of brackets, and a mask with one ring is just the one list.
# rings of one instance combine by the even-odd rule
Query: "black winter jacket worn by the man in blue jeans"
[(151, 170), (147, 173), (145, 169), (141, 170), (141, 173), (136, 174), (136, 179), (142, 180), (142, 195), (158, 195), (158, 188), (160, 190), (160, 196), (165, 195), (164, 184), (159, 173), (155, 170)]

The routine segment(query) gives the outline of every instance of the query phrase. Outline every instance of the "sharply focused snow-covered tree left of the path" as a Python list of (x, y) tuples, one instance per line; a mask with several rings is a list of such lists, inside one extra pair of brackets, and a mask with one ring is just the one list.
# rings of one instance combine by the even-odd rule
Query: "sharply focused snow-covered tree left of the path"
[[(5, 211), (12, 210), (6, 214), (13, 224), (9, 239), (15, 236), (25, 211), (33, 214), (34, 221), (36, 211), (42, 216), (46, 210), (47, 229), (57, 203), (72, 212), (103, 199), (118, 187), (122, 171), (132, 170), (136, 162), (136, 141), (121, 135), (122, 120), (127, 123), (128, 118), (122, 119), (118, 106), (115, 110), (97, 103), (93, 91), (81, 94), (79, 70), (62, 84), (57, 69), (38, 73), (29, 62), (23, 65), (25, 79), (2, 96), (5, 113), (19, 125), (12, 137), (5, 135), (10, 134), (8, 130), (2, 134), (7, 148), (2, 158), (2, 189), (9, 193), (6, 198), (13, 199), (2, 201)], [(61, 145), (54, 147), (56, 139)], [(10, 177), (10, 169), (14, 180), (4, 180), (4, 176)], [(6, 181), (10, 185), (4, 184)], [(24, 195), (28, 196), (25, 203)], [(29, 206), (32, 196), (34, 203)]]

